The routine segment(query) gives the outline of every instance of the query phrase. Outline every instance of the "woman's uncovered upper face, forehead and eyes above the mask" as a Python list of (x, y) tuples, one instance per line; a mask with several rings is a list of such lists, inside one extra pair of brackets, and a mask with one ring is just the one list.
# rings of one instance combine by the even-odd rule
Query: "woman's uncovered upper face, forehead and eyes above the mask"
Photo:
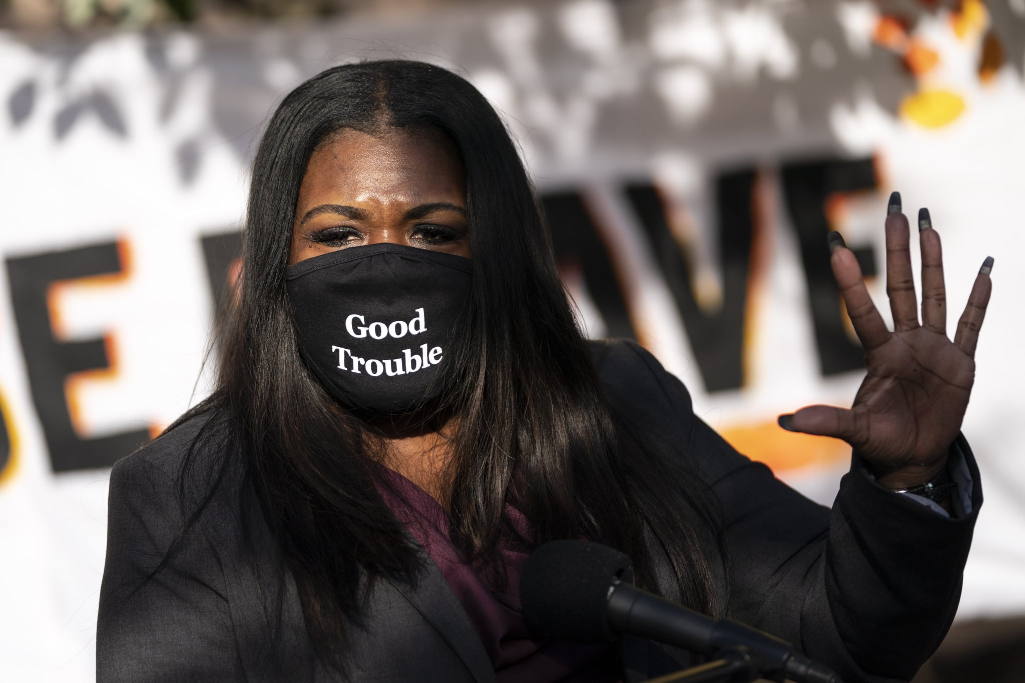
[(466, 179), (441, 134), (345, 129), (310, 158), (289, 263), (388, 242), (469, 257)]

